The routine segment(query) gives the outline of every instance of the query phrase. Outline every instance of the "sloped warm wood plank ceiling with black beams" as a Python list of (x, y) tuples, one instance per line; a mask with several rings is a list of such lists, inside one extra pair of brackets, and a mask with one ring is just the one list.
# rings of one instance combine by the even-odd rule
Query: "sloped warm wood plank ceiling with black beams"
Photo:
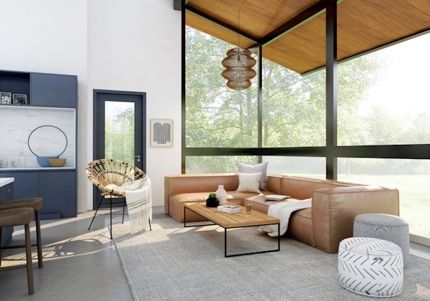
[[(302, 74), (326, 64), (325, 7), (326, 0), (189, 0), (185, 18), (233, 45), (263, 45), (263, 58)], [(429, 0), (338, 1), (338, 60), (429, 30)]]

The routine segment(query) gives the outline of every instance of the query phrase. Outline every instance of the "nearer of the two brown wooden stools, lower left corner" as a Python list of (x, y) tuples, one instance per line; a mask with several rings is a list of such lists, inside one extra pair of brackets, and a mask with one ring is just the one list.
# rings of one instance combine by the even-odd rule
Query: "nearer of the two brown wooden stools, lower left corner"
[(21, 226), (24, 225), (26, 234), (26, 265), (25, 266), (11, 266), (1, 268), (10, 270), (13, 268), (27, 268), (27, 283), (28, 295), (33, 295), (33, 261), (31, 260), (31, 238), (30, 238), (30, 223), (33, 221), (33, 208), (13, 208), (0, 210), (0, 227), (4, 226)]

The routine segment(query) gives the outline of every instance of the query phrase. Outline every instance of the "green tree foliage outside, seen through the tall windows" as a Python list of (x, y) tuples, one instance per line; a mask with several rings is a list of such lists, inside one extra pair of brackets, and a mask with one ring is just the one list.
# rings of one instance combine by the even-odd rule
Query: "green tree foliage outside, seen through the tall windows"
[[(185, 146), (188, 148), (258, 147), (257, 84), (243, 91), (226, 87), (221, 60), (233, 45), (187, 28)], [(264, 48), (263, 48), (264, 51)], [(368, 103), (368, 92), (385, 74), (387, 58), (378, 52), (338, 64), (338, 146), (428, 143), (430, 118), (421, 114), (399, 122), (386, 107)], [(263, 59), (262, 146), (326, 146), (326, 72), (299, 75)], [(256, 69), (256, 67), (255, 67)], [(364, 108), (364, 109), (363, 109)], [(408, 116), (404, 116), (407, 119)], [(405, 126), (406, 125), (406, 126)], [(236, 163), (257, 163), (236, 155), (197, 156), (186, 162), (192, 172), (236, 171)], [(344, 161), (358, 168), (354, 158)], [(375, 168), (375, 161), (360, 169)], [(404, 162), (404, 161), (402, 161)], [(400, 164), (400, 163), (399, 163)], [(398, 166), (404, 170), (404, 166)], [(393, 169), (394, 170), (394, 169)]]

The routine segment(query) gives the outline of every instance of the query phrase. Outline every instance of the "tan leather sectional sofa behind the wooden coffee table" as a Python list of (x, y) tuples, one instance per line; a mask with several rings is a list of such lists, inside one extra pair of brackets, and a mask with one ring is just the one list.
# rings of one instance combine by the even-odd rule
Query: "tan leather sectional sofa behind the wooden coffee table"
[[(243, 204), (253, 202), (253, 210), (267, 213), (270, 204), (263, 196), (252, 192), (236, 192), (238, 174), (169, 175), (165, 177), (165, 212), (184, 221), (185, 202), (203, 202), (209, 192), (224, 185), (228, 201)], [(287, 235), (321, 250), (335, 253), (342, 239), (353, 236), (353, 221), (361, 213), (399, 215), (399, 191), (374, 185), (357, 185), (333, 180), (271, 175), (266, 177), (268, 191), (263, 195), (290, 195), (291, 199), (312, 198), (312, 207), (294, 212)], [(290, 199), (290, 200), (291, 200)], [(202, 217), (187, 212), (187, 221)]]

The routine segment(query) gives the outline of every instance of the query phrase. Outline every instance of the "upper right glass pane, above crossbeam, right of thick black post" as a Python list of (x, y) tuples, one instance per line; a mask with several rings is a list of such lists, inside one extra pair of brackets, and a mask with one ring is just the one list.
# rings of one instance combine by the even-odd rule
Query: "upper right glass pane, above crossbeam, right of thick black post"
[(430, 143), (430, 33), (338, 65), (338, 145)]

